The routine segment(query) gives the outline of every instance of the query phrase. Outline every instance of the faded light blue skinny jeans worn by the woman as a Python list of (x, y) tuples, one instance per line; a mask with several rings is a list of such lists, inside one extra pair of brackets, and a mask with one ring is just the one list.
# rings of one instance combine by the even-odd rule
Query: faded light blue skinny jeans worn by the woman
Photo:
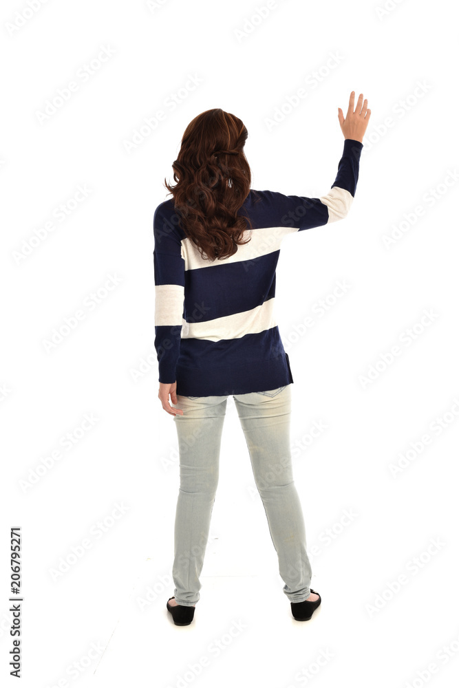
[[(211, 515), (217, 491), (220, 444), (228, 396), (178, 395), (174, 416), (180, 456), (175, 513), (173, 581), (175, 601), (184, 607), (200, 599)], [(290, 602), (310, 595), (303, 512), (293, 482), (290, 454), (291, 385), (233, 395), (246, 438), (255, 483), (279, 559), (279, 574)]]

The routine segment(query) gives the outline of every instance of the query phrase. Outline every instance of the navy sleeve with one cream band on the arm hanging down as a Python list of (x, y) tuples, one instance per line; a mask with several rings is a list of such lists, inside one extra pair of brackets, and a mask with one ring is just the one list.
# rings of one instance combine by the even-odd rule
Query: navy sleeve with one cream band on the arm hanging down
[(184, 314), (185, 261), (175, 228), (156, 208), (153, 216), (155, 349), (160, 383), (175, 383)]

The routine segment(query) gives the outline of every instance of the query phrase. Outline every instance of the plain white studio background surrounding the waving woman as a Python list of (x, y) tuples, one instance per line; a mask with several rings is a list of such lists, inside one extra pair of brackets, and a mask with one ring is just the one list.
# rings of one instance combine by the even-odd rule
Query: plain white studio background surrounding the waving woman
[[(3, 1), (5, 685), (13, 526), (27, 687), (457, 682), (450, 7)], [(175, 627), (178, 445), (153, 352), (164, 178), (189, 121), (222, 107), (248, 128), (254, 189), (323, 195), (352, 89), (372, 117), (350, 214), (286, 238), (277, 269), (295, 482), (323, 603), (308, 623), (290, 615), (229, 398), (201, 600)]]

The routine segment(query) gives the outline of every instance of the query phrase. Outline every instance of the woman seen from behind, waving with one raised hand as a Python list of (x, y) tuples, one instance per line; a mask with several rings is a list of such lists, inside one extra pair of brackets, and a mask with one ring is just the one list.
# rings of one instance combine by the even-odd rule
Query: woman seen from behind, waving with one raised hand
[(354, 109), (352, 92), (346, 117), (341, 108), (338, 116), (345, 141), (337, 178), (326, 195), (309, 198), (250, 189), (243, 122), (218, 108), (202, 112), (186, 127), (173, 163), (177, 184), (165, 184), (173, 199), (154, 214), (158, 397), (175, 421), (180, 453), (175, 590), (167, 601), (177, 625), (193, 621), (200, 599), (229, 395), (292, 616), (306, 621), (321, 603), (310, 588), (303, 513), (292, 477), (293, 378), (273, 306), (282, 239), (342, 219), (354, 199), (370, 119), (363, 94)]

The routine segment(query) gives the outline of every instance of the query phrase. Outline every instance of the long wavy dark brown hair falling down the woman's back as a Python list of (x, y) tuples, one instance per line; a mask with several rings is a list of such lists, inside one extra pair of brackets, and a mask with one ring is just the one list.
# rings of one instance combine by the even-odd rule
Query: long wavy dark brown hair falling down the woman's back
[(229, 258), (250, 219), (238, 211), (250, 191), (250, 166), (244, 154), (248, 132), (244, 122), (220, 107), (206, 110), (186, 127), (177, 160), (172, 164), (175, 213), (204, 260)]

